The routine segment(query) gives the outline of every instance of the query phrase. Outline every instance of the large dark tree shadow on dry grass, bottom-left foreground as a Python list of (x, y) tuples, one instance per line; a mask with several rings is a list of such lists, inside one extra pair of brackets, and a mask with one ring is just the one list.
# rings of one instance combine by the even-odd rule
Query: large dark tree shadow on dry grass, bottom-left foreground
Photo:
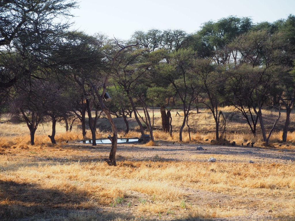
[(0, 180), (0, 220), (19, 220), (54, 210), (90, 209), (86, 192), (42, 189), (31, 183)]

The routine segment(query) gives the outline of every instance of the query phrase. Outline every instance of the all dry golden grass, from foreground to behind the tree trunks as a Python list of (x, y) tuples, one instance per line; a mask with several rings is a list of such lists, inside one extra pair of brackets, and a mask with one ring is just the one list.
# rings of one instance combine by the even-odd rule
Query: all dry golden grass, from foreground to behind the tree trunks
[[(176, 111), (172, 112), (173, 127), (178, 128), (182, 120), (175, 115)], [(171, 146), (173, 151), (163, 146), (172, 142), (182, 146), (210, 144), (215, 136), (210, 116), (209, 112), (190, 116), (191, 128), (211, 128), (193, 130), (191, 141), (187, 131), (179, 142), (177, 131), (171, 138), (155, 130), (155, 142), (119, 146), (117, 167), (103, 161), (109, 146), (92, 149), (71, 142), (82, 139), (78, 128), (66, 133), (58, 125), (58, 144), (53, 145), (47, 137), (50, 125), (44, 125), (31, 146), (24, 124), (2, 121), (0, 220), (295, 220), (294, 162), (249, 164), (243, 153), (216, 152), (210, 156), (224, 161), (208, 163), (206, 152), (184, 156), (175, 146)], [(250, 141), (262, 144), (261, 135), (254, 138), (245, 124), (232, 122), (229, 126), (234, 132), (228, 133), (227, 139), (237, 145)], [(108, 133), (101, 131), (97, 137), (106, 137)], [(123, 136), (124, 131), (118, 135)], [(124, 136), (138, 137), (140, 133), (132, 130)], [(281, 136), (281, 131), (273, 133), (273, 145), (280, 143)], [(281, 151), (286, 151), (286, 145), (292, 150), (294, 143), (295, 133), (289, 133)], [(152, 153), (152, 149), (157, 151)]]

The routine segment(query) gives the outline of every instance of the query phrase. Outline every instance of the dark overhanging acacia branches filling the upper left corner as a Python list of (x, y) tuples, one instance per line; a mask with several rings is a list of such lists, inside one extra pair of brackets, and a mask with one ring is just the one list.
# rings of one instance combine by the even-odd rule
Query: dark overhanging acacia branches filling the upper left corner
[[(9, 0), (0, 3), (0, 45), (1, 56), (18, 51), (21, 62), (34, 56), (38, 66), (54, 50), (59, 33), (68, 29), (68, 22), (56, 22), (57, 18), (71, 16), (69, 11), (76, 8), (75, 1), (65, 0)], [(32, 61), (32, 59), (30, 59)], [(10, 88), (23, 77), (28, 77), (29, 68), (22, 72), (7, 72), (1, 69), (0, 90)]]

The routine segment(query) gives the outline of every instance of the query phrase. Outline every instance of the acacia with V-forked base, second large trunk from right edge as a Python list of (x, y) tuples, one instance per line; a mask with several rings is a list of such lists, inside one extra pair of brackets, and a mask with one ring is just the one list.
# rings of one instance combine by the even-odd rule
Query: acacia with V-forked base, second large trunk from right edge
[[(278, 74), (283, 67), (278, 62), (284, 57), (282, 48), (281, 33), (269, 34), (266, 30), (249, 32), (242, 35), (235, 42), (240, 54), (240, 63), (246, 63), (249, 73), (251, 96), (245, 96), (253, 107), (253, 111), (259, 119), (263, 140), (268, 144), (269, 136), (266, 136), (266, 129), (263, 119), (263, 105), (268, 101), (271, 91), (278, 83)], [(277, 122), (277, 121), (276, 121)], [(276, 124), (276, 123), (275, 123)]]

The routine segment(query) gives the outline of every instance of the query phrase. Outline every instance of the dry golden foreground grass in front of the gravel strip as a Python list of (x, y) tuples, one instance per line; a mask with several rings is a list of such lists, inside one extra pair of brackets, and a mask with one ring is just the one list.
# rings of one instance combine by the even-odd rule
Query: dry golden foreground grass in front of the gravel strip
[[(247, 216), (249, 207), (262, 207), (281, 218), (294, 217), (294, 164), (208, 164), (155, 158), (124, 160), (110, 167), (90, 154), (91, 149), (79, 146), (30, 146), (1, 155), (1, 216), (89, 210), (79, 217), (99, 220), (95, 210), (104, 208), (129, 209), (127, 217), (134, 219), (162, 214), (162, 219), (182, 220), (186, 216)], [(98, 150), (95, 155), (100, 154)], [(116, 203), (118, 197), (122, 202)]]

